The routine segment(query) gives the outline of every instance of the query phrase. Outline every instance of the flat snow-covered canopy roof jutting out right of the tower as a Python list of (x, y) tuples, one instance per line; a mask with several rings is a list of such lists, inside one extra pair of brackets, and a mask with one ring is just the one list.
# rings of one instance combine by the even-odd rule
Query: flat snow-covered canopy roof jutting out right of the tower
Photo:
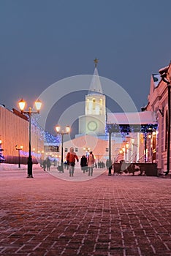
[(107, 113), (107, 124), (156, 124), (156, 113)]

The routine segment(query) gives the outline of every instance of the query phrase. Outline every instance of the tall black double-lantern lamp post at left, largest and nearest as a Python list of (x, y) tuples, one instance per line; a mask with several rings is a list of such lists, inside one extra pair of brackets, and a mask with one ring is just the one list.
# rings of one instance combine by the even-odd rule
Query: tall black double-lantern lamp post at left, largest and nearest
[(40, 100), (38, 99), (34, 104), (36, 106), (37, 111), (32, 111), (31, 108), (28, 108), (28, 111), (25, 111), (25, 105), (26, 102), (23, 99), (20, 99), (20, 101), (18, 102), (19, 104), (19, 108), (21, 113), (25, 113), (28, 115), (29, 117), (29, 151), (28, 151), (28, 165), (27, 165), (27, 178), (33, 178), (33, 173), (32, 173), (32, 166), (33, 166), (33, 162), (32, 162), (32, 157), (31, 157), (31, 116), (34, 114), (39, 113), (39, 110), (42, 106), (42, 102), (40, 102)]

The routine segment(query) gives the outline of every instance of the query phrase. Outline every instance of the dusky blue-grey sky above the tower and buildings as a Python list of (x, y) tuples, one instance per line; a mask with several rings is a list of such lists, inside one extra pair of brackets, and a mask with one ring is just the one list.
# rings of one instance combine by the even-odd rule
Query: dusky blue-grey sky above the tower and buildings
[[(170, 0), (0, 0), (0, 104), (18, 108), (23, 97), (32, 105), (58, 80), (93, 75), (98, 58), (99, 75), (122, 86), (140, 110), (151, 74), (170, 63), (170, 10)], [(56, 102), (47, 129), (76, 98)]]

